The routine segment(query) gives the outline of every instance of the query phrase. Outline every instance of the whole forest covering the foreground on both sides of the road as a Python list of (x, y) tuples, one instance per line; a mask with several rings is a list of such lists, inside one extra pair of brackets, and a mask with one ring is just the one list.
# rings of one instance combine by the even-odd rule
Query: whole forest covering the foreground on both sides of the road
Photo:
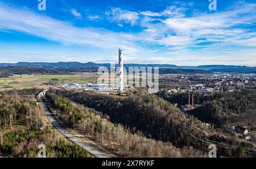
[[(40, 91), (0, 92), (1, 154), (36, 157), (36, 146), (44, 142), (48, 157), (90, 157), (52, 129), (36, 96)], [(219, 157), (255, 157), (254, 143), (230, 132), (237, 122), (255, 126), (255, 91), (193, 94), (202, 106), (188, 112), (179, 109), (187, 93), (164, 90), (139, 89), (126, 96), (52, 89), (44, 100), (69, 128), (119, 157), (208, 157), (211, 143), (220, 147)]]

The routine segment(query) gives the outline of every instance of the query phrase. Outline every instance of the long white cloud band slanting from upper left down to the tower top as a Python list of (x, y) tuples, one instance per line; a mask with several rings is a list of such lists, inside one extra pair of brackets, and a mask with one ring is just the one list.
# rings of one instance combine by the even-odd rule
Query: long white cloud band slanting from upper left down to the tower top
[[(49, 18), (31, 11), (16, 10), (0, 5), (0, 29), (15, 30), (64, 45), (92, 45), (102, 49), (123, 48), (127, 52), (138, 51), (133, 35), (115, 33), (101, 28), (80, 28), (68, 22)], [(19, 16), (19, 17), (17, 17)]]

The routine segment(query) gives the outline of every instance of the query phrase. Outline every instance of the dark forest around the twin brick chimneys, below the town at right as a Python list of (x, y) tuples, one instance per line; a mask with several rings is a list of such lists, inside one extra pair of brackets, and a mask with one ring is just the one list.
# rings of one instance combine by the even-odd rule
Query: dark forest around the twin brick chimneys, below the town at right
[[(202, 107), (193, 109), (188, 113), (201, 121), (210, 122), (218, 127), (228, 124), (256, 125), (256, 90), (243, 89), (234, 92), (215, 92), (212, 95), (192, 92), (195, 104), (203, 104)], [(188, 92), (168, 94), (167, 90), (159, 91), (158, 96), (179, 107), (188, 104)], [(230, 125), (229, 125), (230, 126)]]

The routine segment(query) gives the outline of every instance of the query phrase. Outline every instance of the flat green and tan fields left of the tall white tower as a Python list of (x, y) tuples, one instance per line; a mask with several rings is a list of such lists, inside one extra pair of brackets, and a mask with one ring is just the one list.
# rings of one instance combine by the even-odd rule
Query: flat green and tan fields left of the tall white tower
[[(0, 91), (24, 88), (47, 88), (46, 83), (57, 82), (63, 85), (65, 83), (96, 83), (98, 75), (96, 73), (80, 73), (80, 74), (32, 74), (32, 75), (13, 75), (9, 78), (0, 78)], [(3, 88), (2, 86), (5, 86)]]

